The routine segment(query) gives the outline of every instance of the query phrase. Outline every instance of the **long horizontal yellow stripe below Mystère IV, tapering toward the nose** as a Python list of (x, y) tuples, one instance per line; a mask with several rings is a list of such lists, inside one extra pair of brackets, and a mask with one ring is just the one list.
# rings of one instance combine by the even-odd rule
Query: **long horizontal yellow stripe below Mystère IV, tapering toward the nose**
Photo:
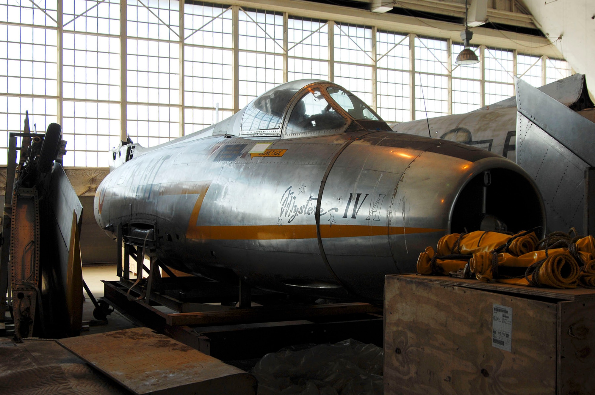
[[(320, 225), (322, 239), (388, 236), (444, 231), (434, 228), (380, 227), (368, 225)], [(316, 239), (316, 225), (226, 225), (189, 227), (187, 239), (196, 240), (290, 240)]]

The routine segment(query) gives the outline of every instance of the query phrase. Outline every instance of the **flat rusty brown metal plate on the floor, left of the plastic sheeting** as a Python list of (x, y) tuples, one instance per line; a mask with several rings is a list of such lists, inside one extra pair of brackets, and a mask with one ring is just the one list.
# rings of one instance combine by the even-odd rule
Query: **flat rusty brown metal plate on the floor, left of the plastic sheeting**
[(256, 379), (149, 328), (59, 340), (134, 394), (255, 394)]

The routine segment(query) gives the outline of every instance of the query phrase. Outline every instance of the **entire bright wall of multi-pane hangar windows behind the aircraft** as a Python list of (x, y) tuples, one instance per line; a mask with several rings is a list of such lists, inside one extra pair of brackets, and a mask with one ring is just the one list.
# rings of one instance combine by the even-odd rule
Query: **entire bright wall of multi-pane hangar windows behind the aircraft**
[[(385, 120), (406, 121), (506, 99), (515, 74), (538, 86), (574, 73), (563, 59), (516, 54), (527, 48), (512, 40), (472, 47), (483, 62), (458, 66), (461, 43), (430, 26), (436, 37), (382, 30), (340, 8), (333, 21), (250, 5), (259, 9), (224, 0), (0, 0), (0, 163), (24, 111), (38, 130), (62, 124), (65, 165), (106, 166), (127, 135), (167, 142), (296, 79), (332, 80)], [(254, 121), (278, 124), (265, 114)]]

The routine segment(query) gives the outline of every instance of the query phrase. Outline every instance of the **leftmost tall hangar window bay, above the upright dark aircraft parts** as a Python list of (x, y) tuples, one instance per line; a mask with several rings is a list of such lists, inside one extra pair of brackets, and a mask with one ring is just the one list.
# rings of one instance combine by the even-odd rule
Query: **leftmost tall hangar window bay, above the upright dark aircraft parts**
[(31, 128), (36, 124), (40, 131), (58, 121), (57, 5), (40, 2), (39, 7), (0, 1), (1, 164), (7, 162), (8, 133), (23, 131), (25, 111)]

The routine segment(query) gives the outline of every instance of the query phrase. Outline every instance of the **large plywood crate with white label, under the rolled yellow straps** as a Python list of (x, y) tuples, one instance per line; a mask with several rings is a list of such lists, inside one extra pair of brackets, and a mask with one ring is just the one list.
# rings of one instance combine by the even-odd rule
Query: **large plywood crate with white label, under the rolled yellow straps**
[(384, 293), (387, 395), (595, 394), (595, 290), (387, 275)]

